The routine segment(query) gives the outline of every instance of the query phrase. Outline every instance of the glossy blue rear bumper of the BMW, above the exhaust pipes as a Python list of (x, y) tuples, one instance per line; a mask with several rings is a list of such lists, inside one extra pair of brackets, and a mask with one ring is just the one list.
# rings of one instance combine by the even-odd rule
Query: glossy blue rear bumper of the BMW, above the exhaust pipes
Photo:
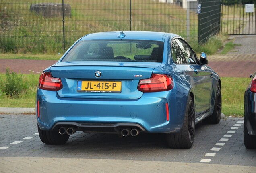
[(140, 99), (74, 99), (61, 98), (56, 91), (38, 89), (37, 100), (40, 113), (37, 123), (42, 130), (57, 130), (69, 124), (78, 131), (88, 131), (87, 126), (95, 129), (93, 127), (101, 125), (100, 129), (104, 129), (121, 123), (147, 133), (176, 133), (183, 125), (187, 97), (173, 89), (144, 93)]

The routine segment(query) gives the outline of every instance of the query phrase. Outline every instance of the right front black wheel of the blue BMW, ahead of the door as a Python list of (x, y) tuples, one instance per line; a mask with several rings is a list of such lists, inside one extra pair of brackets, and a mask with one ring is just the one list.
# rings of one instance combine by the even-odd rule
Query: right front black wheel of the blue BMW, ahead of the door
[(204, 119), (203, 122), (209, 123), (209, 124), (218, 124), (221, 121), (221, 109), (222, 109), (221, 85), (218, 82), (213, 113), (212, 115)]

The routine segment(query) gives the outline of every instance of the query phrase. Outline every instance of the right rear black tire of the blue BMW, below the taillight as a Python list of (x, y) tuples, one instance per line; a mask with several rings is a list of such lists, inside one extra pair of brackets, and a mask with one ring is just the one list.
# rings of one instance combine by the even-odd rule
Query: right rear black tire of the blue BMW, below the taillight
[(166, 134), (167, 144), (170, 148), (189, 149), (195, 138), (195, 109), (194, 101), (188, 97), (184, 123), (179, 133)]

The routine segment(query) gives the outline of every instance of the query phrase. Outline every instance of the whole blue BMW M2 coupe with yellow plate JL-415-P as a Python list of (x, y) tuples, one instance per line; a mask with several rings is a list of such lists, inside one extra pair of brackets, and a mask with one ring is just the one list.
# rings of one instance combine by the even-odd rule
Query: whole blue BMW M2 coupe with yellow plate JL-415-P
[(76, 41), (39, 78), (40, 139), (64, 144), (76, 131), (165, 133), (171, 148), (190, 148), (195, 125), (219, 123), (221, 80), (180, 36), (119, 31)]

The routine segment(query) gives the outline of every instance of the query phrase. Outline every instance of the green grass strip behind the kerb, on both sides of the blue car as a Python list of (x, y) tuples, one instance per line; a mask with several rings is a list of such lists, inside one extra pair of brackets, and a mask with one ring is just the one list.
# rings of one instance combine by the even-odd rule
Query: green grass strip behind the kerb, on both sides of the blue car
[[(21, 74), (19, 74), (21, 75)], [(39, 74), (22, 74), (27, 83), (27, 91), (21, 93), (18, 99), (12, 99), (0, 91), (0, 107), (35, 107), (36, 90)], [(0, 87), (6, 80), (5, 74), (0, 74)], [(222, 112), (226, 116), (244, 115), (244, 91), (250, 78), (222, 77)]]

